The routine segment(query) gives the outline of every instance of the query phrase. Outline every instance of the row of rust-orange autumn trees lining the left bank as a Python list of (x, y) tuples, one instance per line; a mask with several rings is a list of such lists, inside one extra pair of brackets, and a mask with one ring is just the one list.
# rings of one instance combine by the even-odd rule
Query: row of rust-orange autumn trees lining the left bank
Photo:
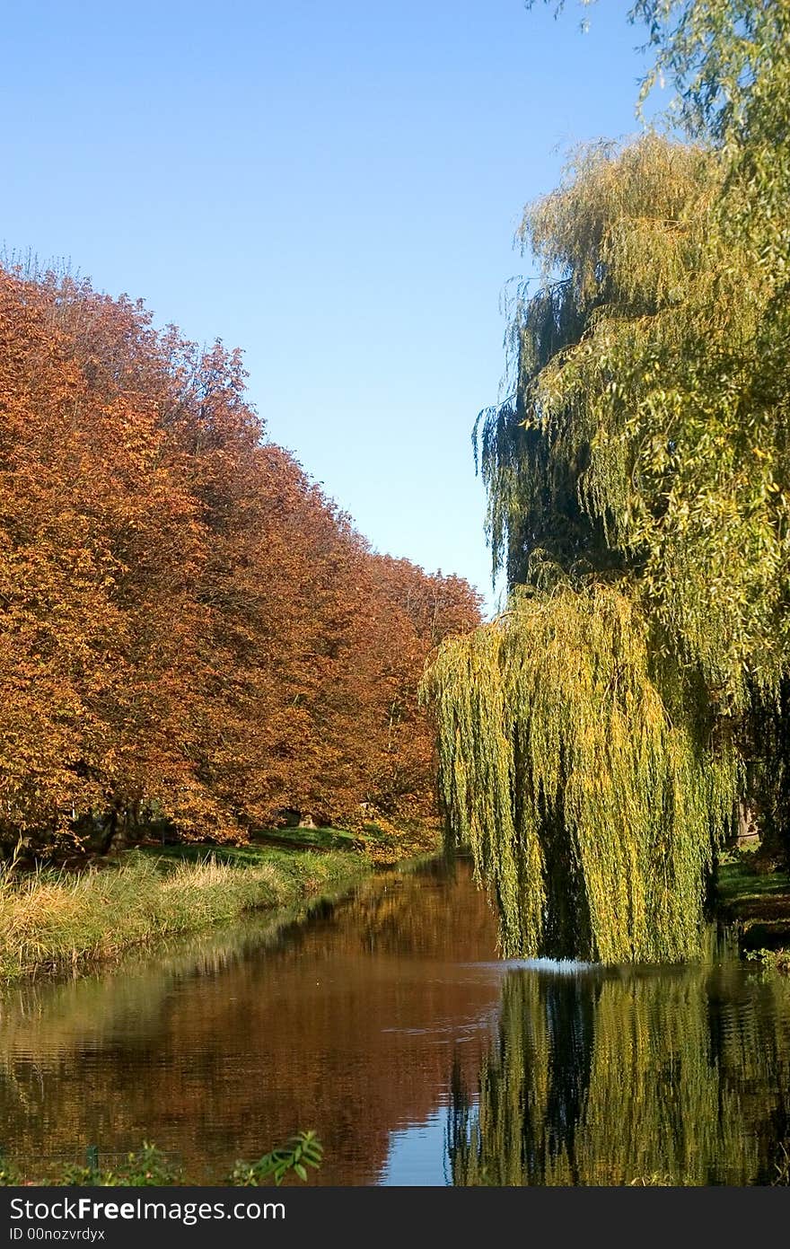
[(373, 553), (265, 441), (237, 352), (0, 271), (5, 842), (424, 818), (419, 677), (478, 620), (464, 581)]

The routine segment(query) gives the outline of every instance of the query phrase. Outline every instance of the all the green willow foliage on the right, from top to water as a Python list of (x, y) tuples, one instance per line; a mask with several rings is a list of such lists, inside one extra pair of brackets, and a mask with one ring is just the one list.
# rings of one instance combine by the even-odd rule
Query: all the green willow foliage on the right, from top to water
[[(512, 600), (426, 678), (449, 837), (504, 950), (605, 962), (698, 952), (745, 763), (776, 772), (788, 738), (790, 117), (764, 96), (790, 27), (750, 27), (773, 40), (764, 71), (725, 0), (640, 7), (708, 122), (587, 149), (527, 210), (538, 289), (478, 427)], [(743, 74), (716, 94), (719, 35)]]

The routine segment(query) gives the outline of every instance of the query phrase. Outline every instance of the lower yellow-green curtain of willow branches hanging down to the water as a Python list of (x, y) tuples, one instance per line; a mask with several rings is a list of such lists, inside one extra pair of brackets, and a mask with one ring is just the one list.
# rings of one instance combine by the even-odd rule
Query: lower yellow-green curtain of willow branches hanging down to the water
[(645, 620), (604, 583), (523, 595), (443, 643), (423, 688), (451, 838), (498, 903), (504, 954), (699, 952), (739, 766), (726, 742), (709, 748), (705, 703), (675, 678), (670, 718)]

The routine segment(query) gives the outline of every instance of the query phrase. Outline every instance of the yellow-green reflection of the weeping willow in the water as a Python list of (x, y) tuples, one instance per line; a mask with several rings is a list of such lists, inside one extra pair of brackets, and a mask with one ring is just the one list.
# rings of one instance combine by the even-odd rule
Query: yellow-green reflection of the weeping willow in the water
[(514, 972), (479, 1102), (453, 1082), (454, 1184), (754, 1184), (788, 1132), (790, 993), (744, 973)]

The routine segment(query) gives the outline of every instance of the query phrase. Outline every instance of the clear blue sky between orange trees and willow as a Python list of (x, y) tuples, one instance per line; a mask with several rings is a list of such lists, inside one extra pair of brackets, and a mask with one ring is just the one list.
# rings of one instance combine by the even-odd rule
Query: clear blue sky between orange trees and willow
[(381, 551), (490, 588), (469, 433), (512, 240), (636, 129), (641, 31), (522, 0), (5, 7), (0, 241), (240, 346), (250, 397)]

